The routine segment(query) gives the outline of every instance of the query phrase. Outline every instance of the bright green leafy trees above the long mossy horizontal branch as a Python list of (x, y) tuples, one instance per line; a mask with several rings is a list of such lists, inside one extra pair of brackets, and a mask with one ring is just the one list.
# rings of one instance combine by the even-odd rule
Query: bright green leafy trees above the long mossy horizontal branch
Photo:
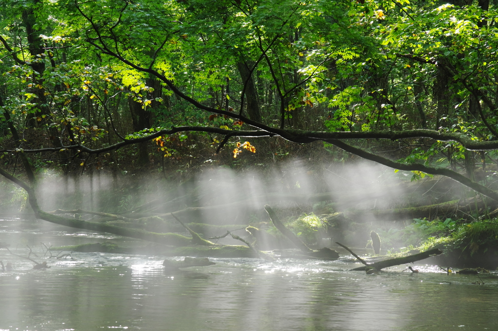
[[(5, 155), (69, 152), (67, 162), (85, 165), (91, 155), (152, 139), (168, 155), (164, 140), (184, 132), (220, 137), (213, 139), (217, 151), (236, 137), (280, 136), (323, 141), (414, 176), (447, 176), (498, 201), (498, 192), (473, 175), (473, 151), (485, 168), (486, 160), (496, 162), (498, 149), (495, 8), (407, 0), (25, 6), (36, 17), (55, 13), (45, 23), (50, 35), (41, 40), (69, 50), (59, 56), (50, 47), (28, 51), (2, 35), (2, 56), (16, 63), (4, 80), (17, 86), (3, 98), (5, 121), (21, 127), (33, 114), (47, 132), (56, 132), (49, 133), (50, 147), (21, 142), (3, 148)], [(25, 31), (20, 40), (33, 35), (29, 25)], [(33, 69), (34, 60), (45, 64), (43, 72)], [(38, 77), (30, 79), (46, 100), (29, 92), (33, 83), (23, 75)], [(264, 116), (254, 78), (278, 97)], [(117, 125), (125, 110), (122, 94), (142, 124)], [(174, 105), (161, 105), (171, 94)], [(307, 112), (316, 116), (303, 125)], [(382, 144), (355, 146), (377, 139), (399, 141), (402, 159), (384, 156)]]

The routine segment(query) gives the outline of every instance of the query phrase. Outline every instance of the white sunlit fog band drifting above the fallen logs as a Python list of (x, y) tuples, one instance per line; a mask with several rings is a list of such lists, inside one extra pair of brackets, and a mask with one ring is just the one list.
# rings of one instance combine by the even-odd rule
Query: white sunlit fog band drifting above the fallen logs
[[(173, 227), (179, 226), (170, 215), (174, 212), (185, 223), (233, 224), (234, 229), (256, 224), (267, 228), (270, 220), (263, 209), (266, 204), (286, 219), (343, 213), (347, 221), (335, 224), (335, 232), (324, 234), (329, 240), (326, 244), (341, 240), (363, 246), (371, 230), (387, 231), (406, 224), (385, 213), (379, 216), (378, 211), (437, 203), (426, 187), (439, 181), (427, 176), (412, 183), (412, 176), (411, 172), (395, 172), (368, 161), (317, 164), (306, 159), (259, 167), (258, 171), (205, 166), (180, 183), (159, 174), (116, 178), (104, 171), (67, 177), (46, 172), (37, 185), (37, 198), (44, 211), (82, 209), (134, 219), (157, 215)], [(10, 209), (4, 208), (4, 213), (29, 213), (25, 193), (5, 180), (2, 185), (11, 190), (10, 199), (8, 195), (4, 198)], [(204, 234), (222, 233), (213, 230)]]

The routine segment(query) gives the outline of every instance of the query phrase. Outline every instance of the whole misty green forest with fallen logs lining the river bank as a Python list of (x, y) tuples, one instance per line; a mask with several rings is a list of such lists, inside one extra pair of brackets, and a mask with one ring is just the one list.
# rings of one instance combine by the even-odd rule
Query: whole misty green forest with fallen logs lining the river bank
[(0, 0), (0, 209), (170, 256), (496, 269), (497, 6)]

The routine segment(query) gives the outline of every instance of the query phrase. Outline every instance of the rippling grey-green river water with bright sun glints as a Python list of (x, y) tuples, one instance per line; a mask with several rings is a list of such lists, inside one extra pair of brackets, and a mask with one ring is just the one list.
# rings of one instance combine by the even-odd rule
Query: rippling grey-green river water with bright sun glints
[[(44, 256), (45, 245), (113, 240), (113, 235), (0, 220), (0, 331), (446, 331), (498, 330), (498, 275), (447, 275), (425, 264), (379, 275), (341, 251), (338, 261), (212, 258), (216, 265), (165, 271), (163, 256), (73, 252)], [(32, 226), (31, 226), (32, 227)], [(56, 253), (52, 253), (56, 254)], [(181, 259), (182, 257), (176, 257)], [(484, 285), (481, 283), (484, 282)]]

